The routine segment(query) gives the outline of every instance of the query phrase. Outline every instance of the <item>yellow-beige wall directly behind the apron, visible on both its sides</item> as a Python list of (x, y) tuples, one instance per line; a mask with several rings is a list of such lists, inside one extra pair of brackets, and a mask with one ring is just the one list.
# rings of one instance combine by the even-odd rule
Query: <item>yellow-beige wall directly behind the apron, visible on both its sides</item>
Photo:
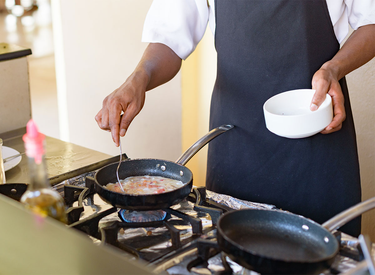
[[(375, 196), (374, 74), (375, 59), (347, 76), (357, 132), (362, 200)], [(207, 28), (202, 41), (198, 44), (194, 53), (183, 62), (182, 66), (183, 148), (189, 147), (192, 142), (208, 130), (210, 98), (215, 79), (216, 51), (214, 49), (213, 35), (210, 29)], [(197, 186), (204, 185), (205, 183), (206, 163), (207, 146), (187, 164), (193, 171), (194, 184)], [(375, 242), (374, 217), (374, 210), (363, 215), (362, 232), (372, 236), (372, 240)]]

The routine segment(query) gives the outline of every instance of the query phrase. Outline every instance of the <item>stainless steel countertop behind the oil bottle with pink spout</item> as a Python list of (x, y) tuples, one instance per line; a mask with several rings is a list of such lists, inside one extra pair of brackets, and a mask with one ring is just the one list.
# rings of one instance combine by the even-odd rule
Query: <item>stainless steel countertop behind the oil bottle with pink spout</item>
[[(20, 153), (25, 151), (22, 135), (25, 128), (0, 134), (3, 146), (11, 147)], [(46, 168), (48, 177), (63, 174), (83, 166), (108, 159), (111, 156), (91, 150), (70, 142), (46, 136)], [(6, 183), (28, 183), (27, 157), (22, 156), (21, 162), (5, 172)]]

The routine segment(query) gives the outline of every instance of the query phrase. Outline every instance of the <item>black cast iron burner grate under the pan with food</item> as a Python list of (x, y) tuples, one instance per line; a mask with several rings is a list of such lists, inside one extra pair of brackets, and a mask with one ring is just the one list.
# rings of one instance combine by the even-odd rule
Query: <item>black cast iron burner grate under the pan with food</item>
[[(72, 186), (69, 184), (66, 184), (64, 186), (64, 198), (66, 203), (68, 204), (78, 200), (78, 207), (71, 207), (70, 209), (68, 209), (70, 223), (69, 226), (81, 230), (86, 234), (89, 234), (90, 236), (101, 240), (104, 243), (114, 245), (126, 252), (129, 252), (137, 258), (140, 257), (141, 254), (138, 248), (134, 248), (128, 245), (126, 242), (118, 240), (118, 232), (121, 230), (121, 228), (124, 230), (128, 228), (147, 229), (165, 227), (169, 232), (171, 241), (171, 246), (166, 250), (165, 254), (168, 254), (175, 249), (181, 248), (183, 245), (186, 245), (192, 240), (199, 238), (199, 236), (201, 236), (202, 234), (207, 233), (202, 229), (201, 219), (172, 208), (158, 210), (157, 212), (148, 212), (148, 214), (151, 215), (148, 215), (146, 218), (143, 215), (145, 212), (120, 209), (118, 211), (118, 217), (122, 222), (115, 221), (111, 225), (99, 229), (99, 221), (105, 216), (116, 212), (117, 208), (113, 207), (111, 209), (105, 210), (104, 212), (95, 213), (85, 219), (79, 220), (81, 212), (83, 212), (82, 200), (84, 197), (88, 196), (91, 193), (95, 193), (95, 180), (94, 178), (89, 176), (86, 177), (85, 187)], [(207, 205), (211, 204), (207, 204), (206, 202), (205, 187), (194, 188), (193, 192), (190, 193), (188, 200), (195, 203), (194, 210), (198, 213), (208, 213), (211, 216), (213, 225), (216, 224), (219, 216), (229, 209), (221, 207), (220, 204), (212, 205), (213, 207), (208, 207)], [(171, 219), (172, 216), (188, 222), (191, 225), (193, 236), (185, 239), (184, 241), (181, 241), (181, 230), (177, 229), (176, 227), (174, 227), (173, 223), (169, 222), (169, 219)], [(209, 230), (212, 229), (213, 228), (210, 228)], [(158, 255), (157, 258), (163, 257), (165, 254)], [(141, 256), (141, 258), (148, 257), (146, 255)], [(157, 260), (157, 258), (148, 258), (146, 260), (153, 261)]]

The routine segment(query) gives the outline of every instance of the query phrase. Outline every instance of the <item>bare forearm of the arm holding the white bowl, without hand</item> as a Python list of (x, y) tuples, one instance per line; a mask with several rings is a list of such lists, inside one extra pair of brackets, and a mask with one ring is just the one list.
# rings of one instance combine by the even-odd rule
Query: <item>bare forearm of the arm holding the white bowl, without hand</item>
[(341, 79), (375, 56), (375, 24), (359, 27), (342, 45), (338, 53), (322, 69), (332, 70)]

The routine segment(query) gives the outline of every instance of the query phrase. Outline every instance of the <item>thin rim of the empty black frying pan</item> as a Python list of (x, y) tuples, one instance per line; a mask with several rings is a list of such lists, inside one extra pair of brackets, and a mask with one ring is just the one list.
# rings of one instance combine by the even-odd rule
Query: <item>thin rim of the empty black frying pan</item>
[[(234, 242), (234, 240), (232, 240), (228, 236), (226, 236), (226, 234), (224, 234), (224, 232), (223, 232), (220, 224), (222, 223), (222, 220), (226, 216), (230, 215), (231, 213), (234, 213), (234, 212), (248, 212), (249, 210), (251, 210), (251, 211), (267, 211), (267, 212), (272, 211), (272, 212), (277, 212), (277, 213), (280, 213), (280, 215), (294, 216), (294, 217), (303, 219), (306, 222), (309, 222), (309, 223), (311, 223), (311, 224), (313, 224), (315, 226), (318, 226), (318, 227), (322, 228), (324, 231), (326, 231), (326, 233), (330, 236), (331, 239), (335, 240), (335, 244), (336, 244), (335, 252), (332, 253), (332, 254), (330, 254), (329, 256), (320, 257), (320, 258), (315, 259), (315, 260), (296, 261), (296, 260), (285, 260), (285, 259), (282, 259), (282, 258), (270, 257), (270, 256), (267, 256), (267, 255), (259, 254), (258, 252), (252, 251), (250, 249), (247, 249), (247, 248), (243, 247), (242, 245), (240, 245), (239, 243)], [(227, 242), (229, 242), (231, 244), (231, 246), (235, 246), (238, 250), (242, 250), (242, 251), (244, 251), (244, 252), (246, 252), (248, 254), (251, 254), (251, 255), (254, 255), (254, 256), (257, 256), (257, 257), (266, 258), (266, 259), (269, 259), (269, 260), (272, 260), (272, 261), (283, 261), (285, 263), (306, 263), (306, 264), (321, 263), (321, 262), (324, 262), (324, 261), (332, 260), (332, 258), (335, 257), (338, 254), (339, 248), (340, 248), (338, 240), (336, 239), (336, 237), (329, 230), (327, 230), (327, 228), (323, 227), (321, 224), (318, 224), (317, 222), (313, 221), (312, 219), (309, 219), (309, 218), (306, 218), (304, 216), (297, 215), (297, 214), (294, 214), (294, 213), (291, 213), (291, 212), (287, 212), (287, 211), (284, 211), (284, 210), (273, 210), (273, 209), (235, 209), (233, 211), (229, 211), (229, 212), (226, 212), (223, 215), (221, 215), (219, 217), (219, 219), (217, 220), (216, 227), (217, 227), (217, 232), (219, 233), (220, 237), (223, 238), (223, 239), (225, 239)], [(220, 249), (222, 249), (221, 246), (220, 246)], [(237, 256), (237, 258), (238, 258), (238, 256)]]

